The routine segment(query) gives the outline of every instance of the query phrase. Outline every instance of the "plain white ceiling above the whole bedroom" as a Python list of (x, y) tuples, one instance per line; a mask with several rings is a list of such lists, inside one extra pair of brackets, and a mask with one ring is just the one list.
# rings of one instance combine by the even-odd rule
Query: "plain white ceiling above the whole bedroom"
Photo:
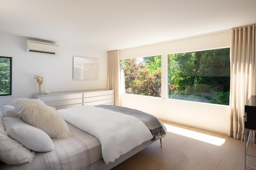
[(0, 0), (0, 33), (104, 51), (254, 23), (256, 0)]

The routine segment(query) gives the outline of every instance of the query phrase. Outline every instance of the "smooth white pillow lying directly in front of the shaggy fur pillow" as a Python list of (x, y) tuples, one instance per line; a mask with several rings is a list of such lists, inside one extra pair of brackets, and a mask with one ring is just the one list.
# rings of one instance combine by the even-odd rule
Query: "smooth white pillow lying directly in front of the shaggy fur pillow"
[(31, 126), (15, 117), (4, 117), (4, 127), (8, 135), (36, 152), (54, 150), (52, 139), (41, 129)]

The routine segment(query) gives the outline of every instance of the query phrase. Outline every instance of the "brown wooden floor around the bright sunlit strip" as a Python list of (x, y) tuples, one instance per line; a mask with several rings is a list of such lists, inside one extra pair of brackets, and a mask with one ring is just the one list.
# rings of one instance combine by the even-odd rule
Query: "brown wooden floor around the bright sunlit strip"
[[(221, 146), (167, 132), (160, 142), (148, 146), (112, 170), (243, 170), (244, 142), (227, 135), (205, 131), (167, 121), (165, 124), (225, 139)], [(252, 147), (253, 146), (253, 147)], [(256, 154), (256, 144), (248, 151)], [(247, 157), (247, 164), (256, 167), (256, 158)], [(251, 170), (251, 168), (246, 168)]]

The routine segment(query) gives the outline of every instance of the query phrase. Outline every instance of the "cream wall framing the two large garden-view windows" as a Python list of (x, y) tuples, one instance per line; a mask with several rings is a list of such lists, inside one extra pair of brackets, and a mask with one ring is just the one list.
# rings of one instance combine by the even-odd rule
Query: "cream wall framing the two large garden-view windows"
[(162, 55), (162, 98), (122, 94), (122, 106), (148, 112), (163, 120), (228, 134), (228, 106), (168, 99), (167, 55), (229, 46), (228, 30), (121, 50), (120, 59)]

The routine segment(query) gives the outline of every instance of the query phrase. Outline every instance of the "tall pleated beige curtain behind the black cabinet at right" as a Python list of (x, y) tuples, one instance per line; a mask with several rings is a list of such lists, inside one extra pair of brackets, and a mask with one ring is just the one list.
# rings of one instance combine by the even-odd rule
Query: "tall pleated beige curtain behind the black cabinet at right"
[[(229, 137), (244, 140), (244, 104), (256, 95), (255, 25), (231, 29), (230, 131)], [(255, 133), (252, 139), (255, 143)]]

